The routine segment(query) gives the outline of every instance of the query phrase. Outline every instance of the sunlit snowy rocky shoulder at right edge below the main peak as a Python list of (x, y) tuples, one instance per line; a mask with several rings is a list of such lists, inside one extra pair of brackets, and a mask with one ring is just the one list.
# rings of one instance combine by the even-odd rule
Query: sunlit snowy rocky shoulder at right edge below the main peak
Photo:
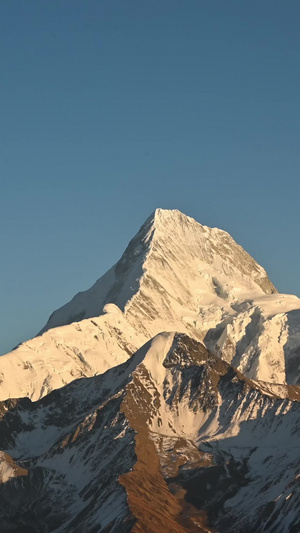
[(300, 300), (274, 294), (236, 306), (208, 331), (206, 345), (246, 376), (300, 383)]

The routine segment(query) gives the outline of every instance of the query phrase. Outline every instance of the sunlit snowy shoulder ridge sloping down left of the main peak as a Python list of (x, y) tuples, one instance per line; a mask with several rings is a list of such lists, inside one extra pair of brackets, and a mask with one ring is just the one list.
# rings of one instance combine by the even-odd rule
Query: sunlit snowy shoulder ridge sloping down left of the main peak
[(0, 400), (38, 400), (74, 379), (126, 361), (147, 339), (114, 304), (93, 319), (51, 329), (0, 358)]

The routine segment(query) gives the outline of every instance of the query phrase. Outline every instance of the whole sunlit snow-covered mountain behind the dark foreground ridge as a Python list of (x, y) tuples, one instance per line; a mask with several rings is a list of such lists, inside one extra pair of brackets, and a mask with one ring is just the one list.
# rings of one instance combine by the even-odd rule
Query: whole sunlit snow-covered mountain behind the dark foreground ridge
[(157, 209), (107, 274), (0, 358), (0, 399), (101, 373), (161, 331), (205, 340), (253, 379), (296, 384), (299, 313), (228, 233)]

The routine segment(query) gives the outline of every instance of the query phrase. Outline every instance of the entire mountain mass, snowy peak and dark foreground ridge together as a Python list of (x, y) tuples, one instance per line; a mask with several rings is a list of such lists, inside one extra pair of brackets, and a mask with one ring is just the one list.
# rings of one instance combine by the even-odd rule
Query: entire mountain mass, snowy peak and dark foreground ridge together
[(300, 531), (300, 300), (157, 209), (0, 358), (1, 531)]

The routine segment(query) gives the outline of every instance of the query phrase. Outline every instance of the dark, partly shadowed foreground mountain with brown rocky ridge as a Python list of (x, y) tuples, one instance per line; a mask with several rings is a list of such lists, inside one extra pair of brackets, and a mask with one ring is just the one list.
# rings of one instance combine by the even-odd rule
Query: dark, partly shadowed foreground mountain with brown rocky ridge
[(299, 389), (276, 392), (162, 333), (100, 376), (2, 402), (1, 528), (298, 531)]

